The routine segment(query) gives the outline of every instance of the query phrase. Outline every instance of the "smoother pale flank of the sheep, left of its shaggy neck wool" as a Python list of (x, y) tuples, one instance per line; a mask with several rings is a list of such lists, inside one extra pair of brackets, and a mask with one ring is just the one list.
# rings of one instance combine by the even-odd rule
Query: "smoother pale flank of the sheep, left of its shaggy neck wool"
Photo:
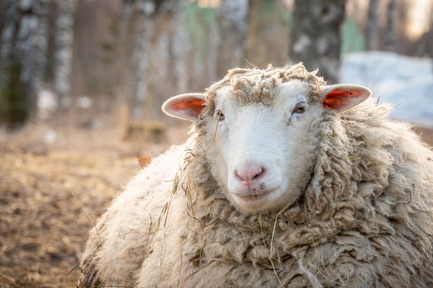
[(174, 146), (154, 159), (98, 220), (97, 230), (92, 229), (81, 257), (84, 275), (79, 287), (102, 283), (127, 286), (135, 277), (143, 255), (150, 253), (147, 250), (155, 240), (156, 223), (170, 196), (183, 149), (184, 146)]

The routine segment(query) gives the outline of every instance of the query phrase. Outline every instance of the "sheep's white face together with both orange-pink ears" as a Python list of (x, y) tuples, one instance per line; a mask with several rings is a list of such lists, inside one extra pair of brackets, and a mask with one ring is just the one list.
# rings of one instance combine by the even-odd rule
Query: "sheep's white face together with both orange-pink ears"
[(370, 91), (324, 86), (317, 102), (311, 100), (310, 87), (299, 80), (276, 81), (271, 89), (253, 86), (249, 94), (225, 85), (212, 99), (176, 96), (163, 109), (203, 121), (211, 173), (231, 203), (244, 211), (277, 210), (302, 193), (310, 180), (319, 145), (314, 128), (322, 114), (350, 109)]

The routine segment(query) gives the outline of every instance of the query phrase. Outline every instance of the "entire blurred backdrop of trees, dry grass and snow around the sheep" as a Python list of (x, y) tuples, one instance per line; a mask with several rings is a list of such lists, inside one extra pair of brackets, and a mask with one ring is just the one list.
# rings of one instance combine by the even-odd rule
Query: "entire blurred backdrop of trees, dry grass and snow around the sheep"
[(170, 96), (303, 61), (432, 145), (432, 58), (432, 0), (0, 0), (0, 288), (74, 287), (84, 210), (188, 137)]

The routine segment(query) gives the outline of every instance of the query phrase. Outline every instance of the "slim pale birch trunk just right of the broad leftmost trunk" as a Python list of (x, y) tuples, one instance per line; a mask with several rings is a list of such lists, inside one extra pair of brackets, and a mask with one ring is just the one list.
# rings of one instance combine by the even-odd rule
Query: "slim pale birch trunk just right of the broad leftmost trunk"
[(61, 0), (57, 16), (54, 86), (59, 109), (63, 108), (63, 99), (69, 96), (71, 89), (75, 5), (76, 0)]

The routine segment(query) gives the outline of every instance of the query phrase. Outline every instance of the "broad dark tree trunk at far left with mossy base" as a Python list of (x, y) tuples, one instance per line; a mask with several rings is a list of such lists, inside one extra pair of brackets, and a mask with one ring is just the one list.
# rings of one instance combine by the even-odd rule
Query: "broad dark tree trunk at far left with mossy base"
[(20, 126), (36, 111), (48, 46), (48, 0), (7, 0), (0, 53), (0, 117)]

